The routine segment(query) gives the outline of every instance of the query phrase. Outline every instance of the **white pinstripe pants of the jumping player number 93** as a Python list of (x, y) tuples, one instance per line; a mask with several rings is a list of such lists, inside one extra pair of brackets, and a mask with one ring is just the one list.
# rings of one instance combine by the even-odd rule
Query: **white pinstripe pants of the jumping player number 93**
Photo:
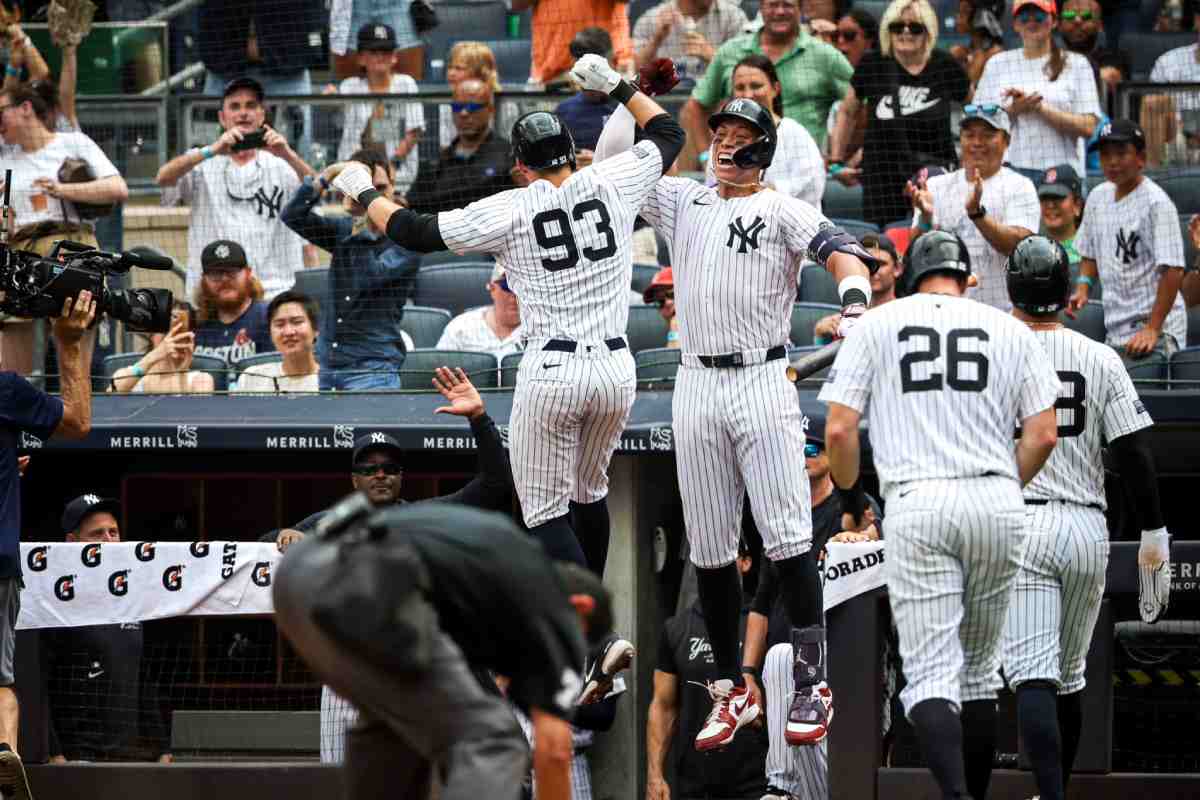
[(517, 369), (509, 422), (512, 482), (529, 528), (608, 495), (608, 462), (637, 395), (629, 348), (580, 342), (575, 353), (533, 339)]

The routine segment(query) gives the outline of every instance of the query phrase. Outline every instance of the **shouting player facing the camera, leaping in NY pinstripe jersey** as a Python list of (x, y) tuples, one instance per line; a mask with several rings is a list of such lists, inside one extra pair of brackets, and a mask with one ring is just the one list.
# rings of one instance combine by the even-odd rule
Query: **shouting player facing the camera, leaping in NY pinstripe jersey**
[[(618, 109), (619, 112), (619, 109)], [(866, 311), (868, 265), (858, 240), (803, 200), (763, 191), (778, 136), (769, 110), (728, 101), (708, 119), (715, 186), (664, 178), (642, 217), (671, 245), (682, 367), (672, 419), (684, 523), (697, 589), (720, 678), (698, 750), (722, 747), (761, 708), (738, 662), (742, 587), (734, 564), (743, 497), (749, 492), (763, 549), (775, 563), (796, 640), (796, 692), (787, 739), (815, 745), (828, 729), (833, 696), (824, 681), (821, 585), (804, 474), (804, 416), (786, 377), (792, 302), (805, 257), (839, 282), (839, 333)], [(614, 114), (605, 137), (628, 138), (629, 116)], [(607, 163), (607, 162), (602, 162)]]

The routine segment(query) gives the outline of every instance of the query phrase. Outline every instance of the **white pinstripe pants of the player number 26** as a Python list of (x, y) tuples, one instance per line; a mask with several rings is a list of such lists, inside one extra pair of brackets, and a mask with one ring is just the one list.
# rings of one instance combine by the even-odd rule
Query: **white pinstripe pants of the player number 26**
[(884, 575), (908, 684), (905, 714), (937, 697), (996, 697), (1004, 615), (1025, 541), (1008, 477), (911, 481), (887, 503)]

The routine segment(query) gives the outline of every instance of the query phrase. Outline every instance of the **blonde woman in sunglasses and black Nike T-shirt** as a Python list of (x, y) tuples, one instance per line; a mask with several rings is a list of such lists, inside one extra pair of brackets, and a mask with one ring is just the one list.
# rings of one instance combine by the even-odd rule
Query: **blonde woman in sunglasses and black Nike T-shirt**
[[(922, 167), (955, 161), (954, 103), (967, 98), (966, 72), (936, 49), (937, 14), (928, 0), (893, 0), (880, 20), (880, 49), (863, 55), (838, 109), (829, 175), (863, 184), (863, 217), (884, 225), (912, 215), (905, 184)], [(859, 109), (866, 109), (862, 169), (846, 166)]]

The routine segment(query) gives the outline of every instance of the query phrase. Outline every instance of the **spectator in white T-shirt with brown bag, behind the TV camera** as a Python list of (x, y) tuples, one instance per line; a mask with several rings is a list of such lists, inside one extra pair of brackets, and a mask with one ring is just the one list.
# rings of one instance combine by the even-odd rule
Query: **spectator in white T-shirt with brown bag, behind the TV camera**
[[(0, 137), (8, 148), (5, 168), (12, 168), (11, 203), (14, 212), (10, 247), (46, 255), (53, 243), (70, 239), (96, 247), (95, 225), (80, 216), (80, 204), (107, 205), (124, 201), (128, 187), (108, 156), (84, 133), (55, 132), (58, 90), (38, 80), (0, 91)], [(86, 162), (95, 180), (65, 184), (60, 170), (68, 160)], [(32, 325), (7, 320), (5, 351), (8, 367), (29, 374), (32, 359)], [(95, 332), (84, 347), (90, 357)]]

